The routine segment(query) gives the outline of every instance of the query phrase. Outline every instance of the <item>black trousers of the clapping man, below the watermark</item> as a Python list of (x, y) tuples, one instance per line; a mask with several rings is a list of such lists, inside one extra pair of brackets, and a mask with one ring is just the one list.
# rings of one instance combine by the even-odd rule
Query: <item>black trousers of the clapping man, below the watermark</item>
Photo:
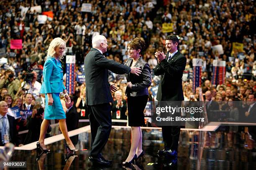
[(162, 126), (164, 148), (178, 151), (180, 126)]

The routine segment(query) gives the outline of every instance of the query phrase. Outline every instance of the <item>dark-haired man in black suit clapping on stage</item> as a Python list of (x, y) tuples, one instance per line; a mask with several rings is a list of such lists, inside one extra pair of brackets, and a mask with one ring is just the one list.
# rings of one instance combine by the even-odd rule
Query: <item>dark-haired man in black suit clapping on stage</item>
[[(158, 101), (182, 101), (182, 75), (186, 66), (186, 57), (177, 49), (179, 39), (175, 35), (166, 37), (165, 47), (167, 54), (156, 52), (158, 65), (154, 69), (155, 75), (161, 75), (157, 96)], [(162, 126), (164, 150), (158, 155), (167, 158), (167, 165), (177, 165), (177, 151), (179, 143), (180, 126)], [(171, 160), (171, 161), (169, 161)]]

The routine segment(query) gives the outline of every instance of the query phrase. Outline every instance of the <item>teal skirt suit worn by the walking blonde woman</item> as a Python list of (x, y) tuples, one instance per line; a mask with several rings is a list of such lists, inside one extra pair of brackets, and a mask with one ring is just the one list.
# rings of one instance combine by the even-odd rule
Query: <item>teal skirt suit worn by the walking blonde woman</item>
[[(61, 67), (61, 62), (57, 61), (54, 57), (48, 56), (44, 63), (43, 78), (44, 80), (40, 93), (45, 94), (46, 99), (44, 118), (46, 120), (66, 119), (59, 97), (59, 93), (66, 89), (63, 84), (63, 69)], [(54, 100), (51, 106), (48, 105), (47, 93), (51, 93)]]

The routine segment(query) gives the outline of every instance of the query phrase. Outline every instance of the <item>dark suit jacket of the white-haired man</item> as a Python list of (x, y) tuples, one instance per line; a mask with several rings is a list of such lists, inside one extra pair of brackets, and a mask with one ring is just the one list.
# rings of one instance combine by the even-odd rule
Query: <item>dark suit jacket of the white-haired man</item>
[(116, 74), (129, 73), (131, 68), (108, 60), (99, 50), (91, 48), (84, 58), (87, 105), (113, 102), (108, 82), (108, 70)]

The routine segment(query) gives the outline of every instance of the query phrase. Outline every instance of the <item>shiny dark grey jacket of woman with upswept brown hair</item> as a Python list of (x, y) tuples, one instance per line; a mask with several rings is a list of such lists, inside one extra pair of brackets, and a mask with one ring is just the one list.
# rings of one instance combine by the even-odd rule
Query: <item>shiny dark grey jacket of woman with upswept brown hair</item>
[[(132, 58), (128, 58), (125, 62), (125, 65), (131, 66), (131, 63), (133, 62)], [(141, 96), (141, 95), (148, 95), (148, 87), (151, 85), (151, 71), (148, 63), (142, 59), (142, 57), (139, 58), (139, 60), (136, 62), (134, 67), (140, 67), (142, 72), (141, 74), (135, 75), (135, 74), (125, 74), (127, 82), (132, 83), (132, 87), (126, 87), (125, 95), (126, 96)]]

